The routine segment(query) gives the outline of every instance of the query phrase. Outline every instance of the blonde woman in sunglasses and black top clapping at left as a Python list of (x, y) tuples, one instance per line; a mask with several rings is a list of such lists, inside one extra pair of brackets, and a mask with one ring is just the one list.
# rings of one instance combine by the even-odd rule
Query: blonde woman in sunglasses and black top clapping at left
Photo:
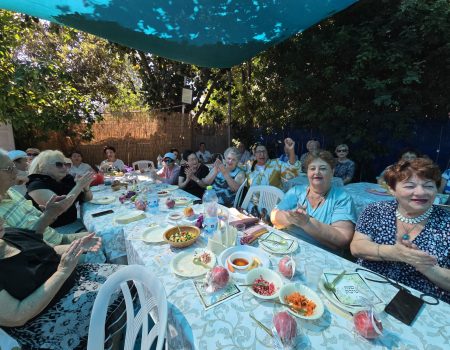
[(76, 202), (90, 201), (92, 192), (89, 185), (94, 179), (92, 172), (78, 176), (76, 179), (68, 174), (69, 165), (65, 163), (64, 154), (60, 151), (41, 152), (32, 162), (29, 169), (26, 198), (33, 201), (36, 208), (45, 205), (53, 195), (73, 194), (73, 203), (61, 214), (51, 227), (58, 232), (79, 232), (84, 230), (83, 223), (77, 219)]

